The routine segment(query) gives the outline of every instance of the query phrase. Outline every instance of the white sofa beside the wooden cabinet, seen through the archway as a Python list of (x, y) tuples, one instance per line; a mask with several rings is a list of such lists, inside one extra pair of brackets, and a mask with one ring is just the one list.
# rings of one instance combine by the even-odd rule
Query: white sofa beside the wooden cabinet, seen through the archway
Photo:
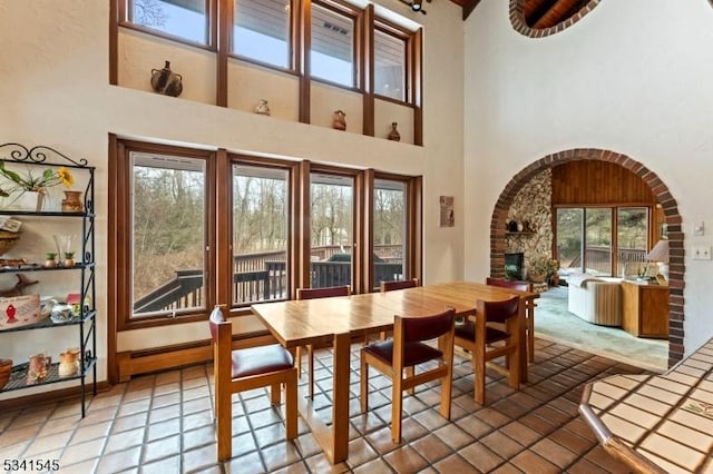
[(567, 309), (587, 323), (622, 326), (622, 279), (593, 275), (567, 278)]

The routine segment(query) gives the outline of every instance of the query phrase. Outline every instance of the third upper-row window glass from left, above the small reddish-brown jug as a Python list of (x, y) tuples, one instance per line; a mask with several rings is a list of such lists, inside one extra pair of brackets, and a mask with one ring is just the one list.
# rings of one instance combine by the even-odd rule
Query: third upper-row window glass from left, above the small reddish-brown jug
[(312, 4), (312, 76), (354, 86), (354, 21)]

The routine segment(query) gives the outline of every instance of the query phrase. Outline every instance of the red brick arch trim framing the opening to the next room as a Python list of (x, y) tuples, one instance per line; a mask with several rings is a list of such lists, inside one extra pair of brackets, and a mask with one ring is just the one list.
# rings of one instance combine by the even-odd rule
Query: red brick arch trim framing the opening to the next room
[(595, 148), (572, 149), (548, 155), (530, 164), (520, 172), (515, 175), (505, 186), (505, 189), (500, 194), (495, 209), (492, 210), (492, 217), (490, 220), (490, 275), (504, 276), (506, 220), (512, 199), (520, 188), (522, 188), (522, 186), (529, 182), (535, 175), (544, 169), (553, 168), (567, 161), (585, 159), (614, 162), (634, 172), (648, 185), (654, 196), (656, 196), (656, 199), (663, 207), (665, 221), (667, 224), (670, 248), (668, 366), (671, 367), (683, 358), (684, 353), (683, 276), (685, 273), (685, 264), (681, 214), (678, 213), (676, 200), (668, 191), (668, 187), (658, 178), (658, 176), (641, 162), (627, 157), (626, 155)]

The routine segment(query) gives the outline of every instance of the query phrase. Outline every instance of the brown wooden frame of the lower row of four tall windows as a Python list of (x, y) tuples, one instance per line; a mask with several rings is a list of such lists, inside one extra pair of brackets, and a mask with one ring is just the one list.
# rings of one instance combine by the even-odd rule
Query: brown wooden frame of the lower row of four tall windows
[[(206, 254), (205, 304), (195, 312), (176, 317), (165, 315), (135, 319), (131, 296), (131, 151), (156, 152), (204, 159), (206, 162)], [(250, 315), (250, 304), (233, 305), (233, 223), (232, 223), (232, 166), (234, 164), (272, 167), (289, 171), (287, 216), (287, 298), (294, 298), (296, 288), (310, 286), (310, 209), (311, 176), (313, 172), (346, 176), (353, 179), (353, 293), (370, 293), (374, 267), (373, 254), (373, 194), (374, 179), (399, 180), (406, 184), (406, 250), (404, 278), (422, 279), (422, 178), (373, 169), (354, 169), (343, 166), (313, 164), (309, 160), (280, 160), (231, 154), (225, 149), (205, 150), (183, 146), (159, 145), (109, 136), (109, 329), (116, 332), (159, 327), (204, 320), (216, 304), (227, 304), (232, 316)], [(218, 217), (227, 216), (227, 217)], [(224, 220), (223, 220), (224, 219)]]

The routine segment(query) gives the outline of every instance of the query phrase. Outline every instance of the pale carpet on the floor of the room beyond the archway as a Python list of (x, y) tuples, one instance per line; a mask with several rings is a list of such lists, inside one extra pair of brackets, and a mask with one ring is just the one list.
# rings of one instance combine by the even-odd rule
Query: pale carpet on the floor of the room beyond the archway
[(535, 337), (648, 371), (668, 368), (668, 340), (634, 337), (619, 328), (579, 319), (567, 310), (567, 287), (540, 294), (535, 309)]

